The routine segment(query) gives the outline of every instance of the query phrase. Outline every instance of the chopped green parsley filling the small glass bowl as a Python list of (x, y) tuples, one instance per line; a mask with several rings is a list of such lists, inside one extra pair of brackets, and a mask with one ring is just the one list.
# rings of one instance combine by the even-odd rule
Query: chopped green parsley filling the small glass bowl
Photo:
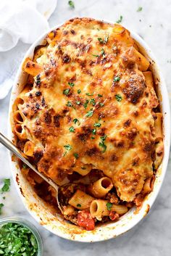
[(0, 228), (0, 255), (37, 256), (38, 243), (33, 233), (18, 223), (7, 223)]

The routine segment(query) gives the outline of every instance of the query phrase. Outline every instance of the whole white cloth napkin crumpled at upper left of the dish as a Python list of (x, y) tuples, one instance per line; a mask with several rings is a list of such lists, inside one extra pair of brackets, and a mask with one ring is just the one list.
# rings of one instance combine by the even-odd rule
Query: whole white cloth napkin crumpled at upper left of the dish
[(47, 20), (56, 6), (57, 0), (0, 0), (0, 99), (7, 96), (28, 46), (20, 44), (20, 49), (15, 47), (16, 51), (12, 48), (18, 41), (32, 44), (49, 29)]

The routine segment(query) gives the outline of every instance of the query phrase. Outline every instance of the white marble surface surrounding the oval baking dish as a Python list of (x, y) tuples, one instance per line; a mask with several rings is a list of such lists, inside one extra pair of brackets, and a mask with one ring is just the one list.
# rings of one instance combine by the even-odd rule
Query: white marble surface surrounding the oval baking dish
[[(57, 9), (51, 16), (50, 25), (54, 26), (71, 17), (95, 17), (116, 21), (123, 16), (122, 25), (135, 30), (153, 49), (159, 65), (163, 70), (168, 91), (171, 93), (171, 0), (74, 0), (75, 9), (70, 9), (67, 0), (59, 0)], [(141, 12), (136, 12), (143, 7)], [(20, 56), (29, 45), (19, 43), (12, 51), (0, 53), (1, 78), (2, 65), (10, 65), (14, 57)], [(4, 78), (3, 78), (4, 79)], [(1, 94), (1, 91), (0, 91)], [(0, 131), (7, 134), (9, 96), (0, 101)], [(38, 226), (22, 205), (17, 191), (12, 186), (5, 194), (6, 199), (0, 196), (0, 203), (4, 203), (0, 218), (20, 216), (35, 224), (43, 239), (44, 256), (57, 255), (107, 255), (107, 256), (169, 256), (171, 255), (171, 160), (167, 169), (162, 189), (149, 215), (135, 228), (117, 239), (95, 244), (81, 244), (61, 239), (43, 227)], [(0, 145), (0, 181), (11, 177), (7, 149)]]

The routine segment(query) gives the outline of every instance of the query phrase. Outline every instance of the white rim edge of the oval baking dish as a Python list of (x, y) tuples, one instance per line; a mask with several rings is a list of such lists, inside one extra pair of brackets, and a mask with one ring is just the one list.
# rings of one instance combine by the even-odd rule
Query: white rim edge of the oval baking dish
[[(97, 20), (97, 19), (95, 19)], [(109, 23), (114, 25), (115, 22), (109, 21), (109, 20), (99, 20), (105, 23)], [(24, 62), (26, 57), (32, 57), (33, 51), (35, 49), (36, 46), (38, 46), (38, 44), (41, 44), (41, 42), (43, 41), (44, 38), (46, 38), (46, 35), (51, 31), (51, 30), (55, 30), (57, 28), (59, 28), (60, 26), (64, 25), (64, 22), (59, 24), (59, 25), (55, 25), (53, 28), (50, 28), (46, 33), (43, 33), (43, 35), (41, 35), (28, 49), (28, 51), (25, 53), (25, 56), (22, 59), (21, 65), (17, 71), (17, 75), (15, 77), (14, 80), (14, 84), (12, 86), (12, 93), (11, 93), (11, 97), (10, 97), (10, 102), (9, 102), (9, 121), (8, 121), (8, 136), (9, 139), (13, 138), (13, 133), (12, 133), (12, 125), (11, 125), (11, 120), (10, 120), (10, 116), (11, 116), (11, 112), (12, 112), (12, 104), (14, 103), (14, 95), (17, 91), (17, 83), (20, 80), (20, 76), (22, 76), (22, 63)], [(125, 26), (124, 26), (125, 28)], [(128, 29), (129, 30), (129, 29)], [(161, 189), (162, 186), (162, 182), (164, 181), (164, 176), (167, 170), (167, 164), (168, 164), (168, 160), (169, 160), (169, 154), (170, 154), (170, 104), (169, 104), (169, 97), (168, 97), (168, 93), (167, 93), (167, 87), (166, 84), (164, 83), (164, 78), (162, 75), (161, 70), (159, 69), (159, 65), (157, 62), (157, 59), (154, 57), (154, 54), (152, 53), (150, 47), (146, 44), (145, 41), (143, 41), (143, 39), (138, 36), (137, 33), (133, 32), (132, 30), (130, 31), (130, 36), (133, 37), (135, 39), (135, 41), (138, 42), (138, 44), (140, 44), (140, 46), (144, 49), (144, 51), (146, 52), (146, 54), (150, 57), (150, 59), (152, 59), (155, 63), (155, 68), (154, 70), (157, 70), (157, 75), (159, 76), (159, 92), (162, 95), (162, 99), (160, 100), (160, 104), (162, 104), (162, 113), (163, 113), (163, 124), (164, 124), (164, 157), (162, 160), (162, 164), (160, 165), (161, 171), (159, 174), (159, 183), (157, 183), (157, 185), (154, 188), (154, 191), (152, 191), (150, 193), (150, 197), (148, 197), (148, 199), (146, 199), (143, 202), (143, 207), (141, 208), (141, 210), (134, 215), (134, 218), (132, 220), (132, 218), (130, 220), (128, 220), (128, 223), (125, 224), (125, 226), (119, 226), (115, 224), (116, 223), (107, 223), (105, 226), (106, 232), (107, 234), (100, 234), (103, 232), (100, 232), (100, 228), (96, 228), (97, 231), (93, 232), (93, 231), (86, 231), (87, 235), (84, 236), (83, 234), (76, 234), (75, 236), (71, 236), (70, 234), (64, 233), (64, 231), (54, 231), (53, 228), (51, 228), (51, 224), (49, 223), (49, 225), (43, 225), (47, 230), (51, 231), (53, 234), (56, 234), (57, 236), (60, 236), (64, 239), (69, 239), (72, 241), (84, 241), (84, 242), (94, 242), (94, 241), (104, 241), (107, 239), (112, 239), (113, 237), (117, 237), (127, 231), (129, 231), (131, 228), (133, 228), (133, 226), (135, 226), (136, 224), (138, 224), (143, 217), (145, 217), (145, 215), (149, 212), (149, 208), (151, 208), (151, 206), (154, 204), (154, 201), (157, 198), (157, 195), (159, 194), (159, 191)], [(166, 120), (167, 119), (167, 120)], [(20, 168), (17, 168), (17, 166), (14, 166), (14, 163), (12, 162), (12, 154), (9, 153), (9, 161), (10, 161), (10, 169), (12, 170), (12, 177), (14, 179), (14, 183), (17, 187), (17, 191), (18, 194), (20, 194), (20, 197), (22, 199), (22, 202), (24, 204), (24, 206), (26, 207), (26, 209), (28, 210), (28, 212), (30, 213), (30, 215), (33, 216), (34, 219), (36, 219), (38, 221), (38, 223), (40, 223), (40, 218), (38, 216), (38, 214), (36, 214), (35, 212), (33, 212), (32, 210), (29, 209), (24, 197), (22, 197), (21, 191), (19, 186), (17, 185), (16, 177), (14, 176), (14, 169), (16, 169), (17, 171), (20, 171)], [(157, 170), (157, 173), (159, 172), (159, 170)], [(131, 210), (132, 211), (132, 210)], [(125, 215), (123, 215), (124, 217)], [(125, 217), (127, 218), (127, 217)], [(120, 222), (120, 220), (118, 221)], [(109, 226), (109, 231), (107, 229), (107, 226)], [(113, 228), (110, 228), (111, 226), (113, 226)], [(101, 229), (103, 229), (104, 226), (101, 226)], [(104, 229), (104, 230), (105, 230)], [(119, 229), (119, 231), (118, 231)], [(84, 232), (85, 233), (85, 232)], [(83, 236), (82, 236), (83, 235)], [(90, 238), (89, 238), (90, 237)]]

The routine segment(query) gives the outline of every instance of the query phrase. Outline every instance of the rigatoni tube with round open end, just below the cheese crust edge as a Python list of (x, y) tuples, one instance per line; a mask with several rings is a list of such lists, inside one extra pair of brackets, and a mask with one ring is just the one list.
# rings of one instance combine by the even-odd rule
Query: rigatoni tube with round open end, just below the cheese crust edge
[(97, 198), (104, 197), (113, 187), (113, 183), (110, 178), (103, 177), (93, 184), (88, 186), (88, 191)]

